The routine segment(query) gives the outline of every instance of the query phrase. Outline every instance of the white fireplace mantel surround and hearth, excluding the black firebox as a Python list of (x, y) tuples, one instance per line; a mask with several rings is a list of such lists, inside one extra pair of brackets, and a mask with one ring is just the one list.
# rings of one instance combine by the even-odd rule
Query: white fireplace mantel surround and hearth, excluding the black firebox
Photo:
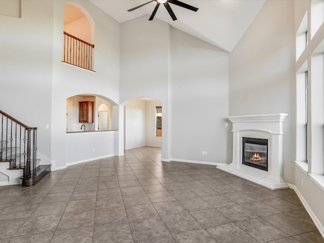
[[(282, 123), (286, 113), (229, 116), (232, 122), (233, 159), (217, 168), (269, 189), (288, 188), (282, 178)], [(268, 171), (242, 164), (242, 137), (268, 140)]]

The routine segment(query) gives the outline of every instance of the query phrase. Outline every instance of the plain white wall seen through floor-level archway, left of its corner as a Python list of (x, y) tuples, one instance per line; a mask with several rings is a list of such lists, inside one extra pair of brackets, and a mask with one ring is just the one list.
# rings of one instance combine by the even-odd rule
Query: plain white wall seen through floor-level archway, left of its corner
[(125, 149), (145, 146), (145, 101), (133, 100), (125, 106)]

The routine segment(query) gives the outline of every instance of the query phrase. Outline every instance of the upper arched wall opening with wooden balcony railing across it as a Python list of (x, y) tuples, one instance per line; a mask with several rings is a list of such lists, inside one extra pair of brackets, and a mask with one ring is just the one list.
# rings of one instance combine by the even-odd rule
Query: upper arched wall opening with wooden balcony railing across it
[(94, 21), (76, 4), (64, 5), (63, 62), (93, 69)]

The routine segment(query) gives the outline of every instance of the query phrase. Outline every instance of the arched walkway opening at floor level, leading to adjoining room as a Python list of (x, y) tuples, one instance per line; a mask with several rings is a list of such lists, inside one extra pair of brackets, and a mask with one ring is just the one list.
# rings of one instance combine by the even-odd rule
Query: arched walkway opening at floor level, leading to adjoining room
[(140, 98), (125, 105), (124, 148), (159, 147), (162, 142), (161, 102), (152, 98)]

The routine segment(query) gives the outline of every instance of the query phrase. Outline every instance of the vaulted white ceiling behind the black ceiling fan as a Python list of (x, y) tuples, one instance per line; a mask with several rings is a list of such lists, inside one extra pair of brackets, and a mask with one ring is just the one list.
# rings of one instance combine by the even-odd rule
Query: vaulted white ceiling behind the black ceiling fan
[[(260, 11), (266, 0), (180, 0), (199, 10), (193, 12), (170, 4), (178, 18), (173, 21), (161, 4), (155, 18), (169, 23), (172, 27), (231, 52), (242, 34)], [(147, 20), (156, 2), (149, 3), (133, 12), (128, 12), (149, 0), (90, 0), (119, 23), (147, 15)], [(154, 21), (153, 19), (153, 21)]]

